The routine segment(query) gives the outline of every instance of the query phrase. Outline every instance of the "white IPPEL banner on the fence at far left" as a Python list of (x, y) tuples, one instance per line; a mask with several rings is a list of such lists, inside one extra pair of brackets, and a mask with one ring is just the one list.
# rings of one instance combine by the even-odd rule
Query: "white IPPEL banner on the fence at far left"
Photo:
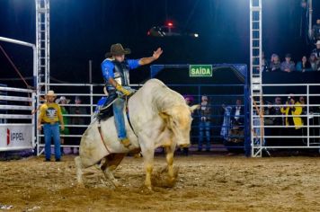
[(32, 148), (31, 124), (0, 124), (0, 150)]

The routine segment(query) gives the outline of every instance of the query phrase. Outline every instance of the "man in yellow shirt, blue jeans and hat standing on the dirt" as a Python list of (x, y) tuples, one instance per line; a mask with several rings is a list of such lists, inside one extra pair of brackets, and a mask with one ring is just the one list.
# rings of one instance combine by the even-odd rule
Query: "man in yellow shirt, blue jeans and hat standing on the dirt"
[(59, 162), (61, 160), (60, 132), (58, 121), (60, 122), (61, 130), (65, 129), (65, 125), (63, 123), (60, 106), (54, 102), (56, 97), (57, 95), (53, 91), (49, 91), (46, 94), (46, 102), (40, 107), (40, 114), (38, 119), (38, 130), (41, 129), (41, 123), (43, 123), (46, 162), (49, 162), (51, 157), (51, 137), (53, 137), (53, 141), (55, 144), (56, 162)]

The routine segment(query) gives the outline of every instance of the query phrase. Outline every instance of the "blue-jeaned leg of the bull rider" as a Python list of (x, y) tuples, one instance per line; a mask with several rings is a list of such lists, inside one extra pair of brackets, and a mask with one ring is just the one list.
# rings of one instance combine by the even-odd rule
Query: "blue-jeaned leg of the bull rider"
[(124, 104), (125, 104), (125, 100), (122, 98), (118, 98), (113, 103), (114, 121), (118, 131), (119, 139), (123, 139), (127, 137), (126, 126), (125, 126), (124, 115), (123, 115)]

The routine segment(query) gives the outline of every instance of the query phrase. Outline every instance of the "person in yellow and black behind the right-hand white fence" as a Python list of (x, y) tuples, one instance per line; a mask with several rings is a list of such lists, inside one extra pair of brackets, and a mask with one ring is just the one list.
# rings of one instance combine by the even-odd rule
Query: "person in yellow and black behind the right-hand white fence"
[(295, 97), (290, 95), (288, 97), (288, 101), (286, 102), (286, 106), (281, 108), (280, 110), (283, 114), (286, 115), (285, 123), (286, 123), (286, 126), (289, 127), (287, 128), (287, 135), (291, 137), (297, 137), (297, 138), (289, 138), (291, 141), (289, 145), (290, 146), (301, 145), (301, 141), (302, 141), (301, 127), (303, 126), (303, 122), (300, 117), (302, 113), (302, 107), (300, 102), (297, 102)]

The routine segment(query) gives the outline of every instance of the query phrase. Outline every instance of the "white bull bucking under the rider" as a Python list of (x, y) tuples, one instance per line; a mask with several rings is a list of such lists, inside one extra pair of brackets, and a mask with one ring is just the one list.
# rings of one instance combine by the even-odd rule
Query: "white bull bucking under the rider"
[(181, 94), (169, 89), (161, 81), (151, 79), (129, 99), (128, 108), (133, 130), (127, 119), (125, 122), (132, 145), (129, 148), (122, 146), (113, 117), (101, 122), (101, 134), (98, 123), (93, 122), (84, 132), (80, 155), (75, 158), (78, 183), (83, 183), (83, 168), (105, 158), (102, 172), (115, 186), (119, 185), (111, 171), (119, 165), (125, 154), (140, 149), (146, 170), (145, 186), (151, 189), (154, 153), (159, 146), (165, 148), (169, 179), (174, 180), (173, 152), (176, 146), (190, 145), (191, 111), (196, 106), (189, 107)]

